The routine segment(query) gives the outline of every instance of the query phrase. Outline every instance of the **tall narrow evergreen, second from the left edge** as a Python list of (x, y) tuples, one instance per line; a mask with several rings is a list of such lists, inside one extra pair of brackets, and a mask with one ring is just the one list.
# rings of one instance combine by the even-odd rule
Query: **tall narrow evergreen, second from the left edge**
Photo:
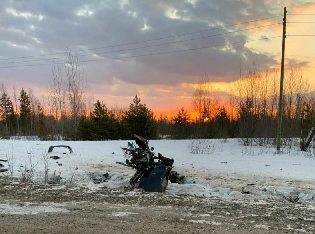
[(24, 131), (24, 134), (30, 133), (30, 121), (31, 121), (31, 99), (27, 92), (22, 88), (20, 91), (20, 123)]

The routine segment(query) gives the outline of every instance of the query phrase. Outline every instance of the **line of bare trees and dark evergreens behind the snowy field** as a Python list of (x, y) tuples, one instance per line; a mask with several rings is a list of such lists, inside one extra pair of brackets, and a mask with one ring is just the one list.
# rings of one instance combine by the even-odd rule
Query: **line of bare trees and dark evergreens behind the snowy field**
[[(65, 78), (64, 78), (65, 77)], [(87, 82), (77, 57), (67, 49), (52, 67), (46, 94), (31, 90), (10, 97), (0, 85), (0, 134), (39, 136), (42, 140), (118, 140), (136, 133), (149, 139), (239, 138), (244, 145), (275, 144), (279, 76), (255, 65), (240, 67), (225, 105), (212, 90), (205, 73), (192, 94), (192, 109), (172, 117), (153, 110), (135, 96), (129, 108), (108, 108), (86, 95)], [(287, 67), (283, 99), (283, 145), (291, 137), (306, 137), (315, 121), (315, 92), (303, 74)]]

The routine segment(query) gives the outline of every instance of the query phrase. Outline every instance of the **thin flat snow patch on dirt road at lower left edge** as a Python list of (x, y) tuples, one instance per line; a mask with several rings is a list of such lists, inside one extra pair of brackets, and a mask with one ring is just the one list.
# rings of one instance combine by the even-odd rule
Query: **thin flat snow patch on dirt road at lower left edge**
[(64, 208), (54, 206), (19, 206), (10, 204), (0, 204), (0, 214), (39, 214), (50, 212), (70, 212)]

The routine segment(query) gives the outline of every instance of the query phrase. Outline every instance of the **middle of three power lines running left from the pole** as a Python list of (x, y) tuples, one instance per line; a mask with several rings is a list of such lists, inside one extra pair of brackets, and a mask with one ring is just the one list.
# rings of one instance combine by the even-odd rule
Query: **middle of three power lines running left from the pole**
[[(243, 32), (243, 31), (247, 31), (247, 30), (252, 30), (252, 29), (262, 28), (262, 27), (267, 27), (267, 26), (273, 26), (273, 25), (278, 25), (278, 24), (282, 24), (282, 23), (274, 23), (274, 24), (258, 26), (258, 27), (253, 27), (253, 28), (247, 28), (247, 29), (242, 29), (242, 30), (237, 30), (237, 31), (232, 31), (232, 32), (225, 32), (225, 33), (220, 33), (220, 34), (215, 34), (215, 35), (209, 35), (209, 36), (198, 37), (198, 38), (191, 38), (191, 39), (175, 41), (175, 42), (167, 42), (167, 43), (156, 44), (156, 45), (148, 45), (148, 46), (142, 46), (142, 47), (136, 47), (136, 48), (130, 48), (130, 49), (123, 49), (123, 50), (114, 50), (114, 51), (106, 51), (106, 52), (100, 52), (100, 53), (92, 53), (92, 54), (86, 54), (86, 55), (77, 55), (76, 57), (89, 56), (89, 55), (100, 55), (100, 54), (107, 54), (107, 53), (114, 53), (114, 52), (137, 50), (137, 49), (149, 48), (149, 47), (154, 47), (154, 46), (168, 45), (168, 44), (174, 44), (174, 43), (179, 43), (179, 42), (186, 42), (186, 41), (192, 41), (192, 40), (197, 40), (197, 39), (221, 36), (221, 35), (231, 34), (231, 33), (234, 33), (234, 32)], [(36, 60), (25, 60), (25, 61), (15, 61), (15, 62), (5, 62), (5, 63), (0, 63), (0, 65), (2, 65), (2, 64), (12, 64), (12, 63), (21, 63), (21, 62), (34, 62), (34, 61), (54, 60), (54, 59), (63, 59), (63, 58), (64, 57), (36, 59)]]

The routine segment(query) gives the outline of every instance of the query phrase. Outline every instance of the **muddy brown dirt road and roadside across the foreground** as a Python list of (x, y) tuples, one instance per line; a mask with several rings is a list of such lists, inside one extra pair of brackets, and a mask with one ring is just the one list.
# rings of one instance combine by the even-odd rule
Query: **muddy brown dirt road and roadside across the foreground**
[[(42, 211), (20, 214), (30, 207)], [(0, 182), (1, 233), (313, 233), (314, 226), (307, 202)]]

